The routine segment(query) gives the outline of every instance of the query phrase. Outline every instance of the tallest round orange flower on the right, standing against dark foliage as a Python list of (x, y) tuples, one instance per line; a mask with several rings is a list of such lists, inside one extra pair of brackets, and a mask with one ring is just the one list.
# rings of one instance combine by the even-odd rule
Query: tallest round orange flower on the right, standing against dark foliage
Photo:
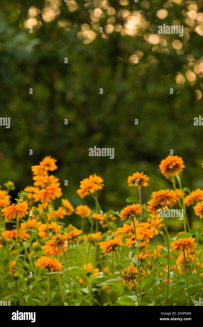
[(173, 175), (179, 175), (184, 168), (183, 160), (179, 156), (168, 155), (163, 159), (159, 165), (159, 170), (166, 177), (169, 178)]

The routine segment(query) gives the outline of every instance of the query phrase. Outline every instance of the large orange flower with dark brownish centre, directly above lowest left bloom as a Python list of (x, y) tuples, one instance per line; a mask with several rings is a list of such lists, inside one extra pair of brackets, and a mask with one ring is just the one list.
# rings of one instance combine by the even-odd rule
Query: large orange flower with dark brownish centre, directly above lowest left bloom
[[(63, 249), (66, 251), (67, 246), (65, 246), (66, 235), (57, 234), (52, 236), (51, 240), (46, 242), (45, 245), (41, 247), (43, 253), (49, 257), (54, 257), (55, 255), (60, 256), (63, 253)], [(63, 249), (62, 249), (63, 247)]]

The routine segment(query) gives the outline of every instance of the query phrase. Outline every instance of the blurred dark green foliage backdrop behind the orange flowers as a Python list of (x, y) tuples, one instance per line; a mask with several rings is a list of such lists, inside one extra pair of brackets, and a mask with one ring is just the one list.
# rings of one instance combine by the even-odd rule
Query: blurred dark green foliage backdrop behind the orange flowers
[[(136, 171), (150, 177), (143, 190), (144, 201), (152, 191), (172, 186), (158, 165), (173, 149), (186, 166), (183, 186), (202, 188), (203, 127), (193, 124), (194, 117), (202, 114), (202, 98), (197, 100), (195, 92), (202, 93), (201, 72), (195, 81), (186, 78), (187, 71), (193, 71), (202, 60), (203, 51), (202, 36), (195, 30), (203, 25), (202, 16), (192, 19), (194, 24), (187, 21), (187, 13), (193, 9), (188, 6), (196, 4), (201, 12), (202, 2), (153, 0), (148, 9), (143, 8), (147, 1), (140, 0), (75, 3), (76, 9), (71, 11), (62, 0), (1, 1), (0, 109), (2, 117), (10, 117), (10, 129), (0, 127), (1, 184), (14, 181), (17, 193), (32, 183), (31, 165), (51, 155), (57, 159), (55, 175), (64, 198), (74, 206), (87, 203), (93, 207), (91, 199), (81, 201), (75, 192), (79, 181), (95, 172), (105, 183), (99, 194), (104, 211), (121, 210), (125, 198), (134, 195), (127, 177)], [(25, 26), (31, 6), (39, 12), (33, 33)], [(115, 8), (114, 15), (108, 15), (108, 7)], [(46, 8), (55, 12), (51, 21), (41, 15)], [(95, 8), (103, 12), (95, 24), (103, 27), (104, 37), (93, 28)], [(156, 13), (163, 8), (168, 15), (160, 19)], [(143, 18), (145, 24), (137, 34), (105, 33), (109, 17), (111, 25), (125, 28), (124, 11), (139, 12)], [(149, 35), (158, 35), (159, 25), (172, 22), (186, 27), (186, 36), (165, 35), (165, 45), (149, 42)], [(79, 33), (87, 27), (84, 24), (95, 35), (88, 44)], [(174, 40), (181, 41), (181, 50), (173, 47)], [(138, 50), (143, 56), (133, 64), (129, 58)], [(66, 57), (68, 64), (64, 63)], [(182, 84), (175, 80), (178, 72), (185, 77)], [(114, 159), (89, 157), (89, 148), (94, 146), (114, 147)], [(66, 187), (64, 180), (68, 180)]]

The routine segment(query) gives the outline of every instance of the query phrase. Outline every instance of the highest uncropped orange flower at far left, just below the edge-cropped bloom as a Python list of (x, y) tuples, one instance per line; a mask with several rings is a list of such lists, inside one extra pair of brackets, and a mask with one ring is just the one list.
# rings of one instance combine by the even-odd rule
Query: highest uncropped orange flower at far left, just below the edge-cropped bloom
[(22, 218), (25, 215), (28, 214), (28, 204), (26, 201), (20, 202), (20, 203), (12, 203), (12, 205), (2, 209), (2, 212), (4, 213), (3, 216), (5, 216), (6, 220), (11, 220), (14, 218)]

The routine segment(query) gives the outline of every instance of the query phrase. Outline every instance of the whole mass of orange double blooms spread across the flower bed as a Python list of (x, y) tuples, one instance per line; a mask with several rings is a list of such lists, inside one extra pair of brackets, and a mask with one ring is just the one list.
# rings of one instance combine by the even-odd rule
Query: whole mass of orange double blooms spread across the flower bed
[[(152, 199), (147, 202), (146, 207), (142, 206), (141, 201), (124, 207), (120, 211), (120, 221), (131, 219), (132, 222), (123, 223), (122, 227), (115, 227), (114, 222), (118, 218), (118, 214), (103, 214), (102, 212), (101, 215), (99, 213), (101, 208), (98, 203), (96, 191), (101, 190), (104, 183), (103, 179), (96, 174), (90, 175), (89, 178), (80, 181), (80, 187), (76, 191), (81, 199), (87, 195), (91, 195), (94, 198), (96, 206), (94, 212), (92, 212), (91, 208), (87, 205), (82, 204), (74, 209), (68, 199), (61, 199), (61, 205), (55, 210), (53, 200), (62, 196), (61, 188), (59, 187), (59, 179), (54, 175), (49, 175), (49, 171), (52, 172), (57, 169), (55, 163), (56, 160), (49, 156), (45, 157), (39, 165), (31, 167), (34, 186), (26, 186), (24, 191), (22, 191), (22, 197), (17, 199), (17, 203), (10, 204), (9, 188), (7, 191), (0, 190), (1, 226), (3, 227), (3, 230), (0, 232), (3, 240), (0, 243), (0, 248), (2, 249), (6, 246), (7, 242), (9, 242), (11, 246), (14, 246), (16, 242), (22, 243), (22, 241), (26, 241), (31, 236), (30, 230), (35, 230), (38, 233), (39, 240), (33, 240), (32, 248), (41, 248), (42, 250), (42, 255), (36, 259), (35, 262), (35, 266), (41, 269), (47, 268), (51, 272), (61, 272), (63, 269), (63, 261), (60, 262), (59, 259), (63, 254), (65, 255), (65, 251), (68, 250), (68, 247), (76, 246), (78, 249), (80, 243), (86, 242), (88, 247), (95, 247), (99, 257), (102, 257), (102, 259), (109, 253), (116, 254), (117, 256), (117, 251), (120, 251), (119, 248), (124, 245), (125, 247), (133, 247), (134, 250), (139, 250), (136, 254), (134, 253), (133, 258), (136, 259), (138, 257), (141, 266), (137, 267), (132, 264), (131, 261), (131, 264), (123, 268), (121, 272), (122, 282), (127, 284), (129, 289), (133, 289), (138, 285), (140, 271), (140, 279), (149, 275), (149, 263), (151, 265), (151, 259), (157, 256), (167, 257), (167, 253), (162, 245), (156, 245), (153, 252), (149, 249), (150, 239), (153, 237), (156, 239), (160, 231), (164, 232), (163, 218), (159, 218), (158, 210), (164, 207), (168, 208), (168, 206), (172, 207), (177, 204), (178, 201), (180, 202), (183, 200), (186, 206), (195, 204), (195, 215), (199, 216), (199, 218), (203, 217), (203, 201), (197, 202), (198, 200), (203, 200), (203, 191), (201, 189), (198, 188), (187, 196), (185, 196), (182, 189), (164, 189), (152, 192)], [(172, 181), (174, 176), (179, 175), (184, 167), (182, 158), (171, 155), (163, 159), (159, 165), (161, 173), (169, 179), (169, 181)], [(135, 181), (137, 181), (137, 185)], [(132, 176), (128, 176), (127, 182), (129, 186), (137, 186), (138, 190), (140, 190), (141, 187), (148, 186), (149, 177), (143, 172), (136, 172)], [(38, 205), (36, 205), (36, 202), (39, 202)], [(147, 221), (145, 222), (142, 221), (143, 211), (145, 212), (144, 218), (147, 217)], [(63, 227), (63, 224), (60, 224), (59, 219), (63, 219), (65, 215), (70, 216), (73, 213), (80, 216), (82, 221), (84, 221), (84, 218), (91, 217), (92, 226), (89, 234), (83, 235), (83, 231), (72, 224), (69, 224), (67, 227)], [(21, 221), (19, 224), (19, 220), (25, 218), (25, 215), (28, 215), (28, 219), (26, 221)], [(138, 215), (138, 217), (136, 217), (136, 215)], [(9, 222), (11, 219), (16, 219), (16, 227), (13, 230), (7, 230), (5, 228), (6, 222)], [(98, 231), (98, 225), (96, 224), (95, 232), (93, 232), (94, 221), (99, 221), (101, 228), (107, 228), (108, 230), (102, 233)], [(166, 246), (166, 243), (164, 245)], [(186, 251), (185, 256), (187, 262), (197, 259), (196, 254), (198, 251), (195, 250), (196, 240), (192, 236), (177, 238), (170, 243), (170, 247), (176, 254), (180, 251), (176, 258), (175, 265), (170, 265), (170, 270), (178, 269), (179, 274), (184, 272), (184, 250)], [(30, 251), (30, 258), (34, 252), (34, 250)], [(17, 254), (18, 248), (15, 247), (12, 255), (15, 256)], [(57, 257), (59, 259), (57, 259)], [(29, 260), (31, 260), (30, 258)], [(17, 267), (17, 263), (18, 260), (16, 259), (10, 262), (9, 274), (13, 278), (15, 276), (15, 267)], [(146, 266), (144, 263), (146, 263)], [(111, 274), (108, 265), (102, 267), (102, 264), (100, 264), (100, 269), (101, 268), (103, 269), (103, 273), (107, 275)], [(83, 271), (86, 270), (86, 273), (94, 270), (93, 277), (99, 274), (99, 268), (94, 267), (90, 262), (86, 262), (85, 265), (82, 263), (82, 269)], [(162, 275), (163, 273), (160, 273), (160, 276)], [(84, 284), (87, 282), (85, 276), (84, 272), (84, 277), (77, 277), (80, 283)], [(201, 274), (201, 276), (203, 276), (203, 274)], [(108, 285), (103, 285), (102, 287), (109, 288)]]

